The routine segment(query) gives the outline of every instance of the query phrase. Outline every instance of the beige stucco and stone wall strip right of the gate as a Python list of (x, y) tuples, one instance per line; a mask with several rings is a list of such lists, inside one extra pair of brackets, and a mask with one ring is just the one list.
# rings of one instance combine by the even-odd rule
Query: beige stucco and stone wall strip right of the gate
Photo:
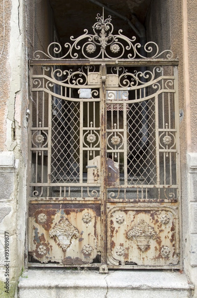
[[(197, 288), (197, 0), (183, 0), (184, 32), (184, 89), (186, 112), (186, 140), (188, 155), (188, 192), (185, 193), (188, 204), (189, 226), (184, 237), (185, 270)], [(187, 242), (186, 242), (187, 241)], [(197, 297), (197, 289), (195, 291)]]

